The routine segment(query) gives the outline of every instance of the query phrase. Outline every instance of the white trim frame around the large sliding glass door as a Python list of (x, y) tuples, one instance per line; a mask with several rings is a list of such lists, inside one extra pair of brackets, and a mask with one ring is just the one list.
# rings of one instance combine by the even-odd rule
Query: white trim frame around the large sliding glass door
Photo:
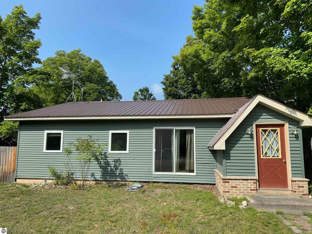
[[(186, 130), (186, 129), (193, 129), (194, 131), (194, 172), (156, 172), (155, 171), (155, 152), (156, 152), (156, 145), (155, 145), (155, 130), (156, 129), (173, 129), (174, 130), (174, 139), (176, 140), (176, 130)], [(153, 128), (153, 174), (154, 175), (188, 175), (188, 176), (196, 176), (196, 128), (195, 127), (155, 127)], [(176, 144), (174, 144), (176, 145)], [(176, 147), (174, 149), (174, 163), (176, 165)]]

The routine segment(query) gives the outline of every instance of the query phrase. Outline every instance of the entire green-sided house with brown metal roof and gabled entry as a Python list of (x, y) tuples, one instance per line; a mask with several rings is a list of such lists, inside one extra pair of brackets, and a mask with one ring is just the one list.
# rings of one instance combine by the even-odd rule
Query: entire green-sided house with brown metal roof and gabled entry
[[(224, 196), (308, 196), (302, 128), (312, 117), (257, 95), (155, 101), (68, 102), (5, 117), (20, 121), (17, 182), (64, 170), (64, 148), (107, 143), (89, 179), (216, 184)], [(72, 155), (75, 157), (75, 152)], [(79, 168), (73, 160), (73, 166)]]

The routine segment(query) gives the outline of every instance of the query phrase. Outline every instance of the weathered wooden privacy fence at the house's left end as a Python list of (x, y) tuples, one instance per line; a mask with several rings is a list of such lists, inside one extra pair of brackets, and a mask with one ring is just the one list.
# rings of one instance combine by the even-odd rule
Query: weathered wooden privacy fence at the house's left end
[(1, 183), (13, 183), (15, 181), (16, 152), (16, 146), (0, 146)]

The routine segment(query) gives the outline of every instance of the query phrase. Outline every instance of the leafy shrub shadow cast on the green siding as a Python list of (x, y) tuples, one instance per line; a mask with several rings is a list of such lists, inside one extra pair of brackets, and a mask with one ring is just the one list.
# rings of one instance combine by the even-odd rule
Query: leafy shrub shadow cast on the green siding
[(108, 156), (106, 153), (102, 153), (99, 157), (96, 158), (98, 166), (101, 171), (101, 175), (99, 178), (96, 177), (94, 173), (91, 173), (91, 177), (94, 180), (127, 180), (128, 175), (123, 173), (123, 169), (121, 168), (121, 160), (120, 158), (114, 158), (111, 163), (108, 160)]

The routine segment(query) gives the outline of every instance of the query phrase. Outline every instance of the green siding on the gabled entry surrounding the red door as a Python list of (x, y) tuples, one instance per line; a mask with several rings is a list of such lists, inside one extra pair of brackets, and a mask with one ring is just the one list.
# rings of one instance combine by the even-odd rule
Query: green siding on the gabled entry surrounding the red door
[(256, 176), (254, 150), (255, 132), (253, 130), (253, 134), (248, 135), (245, 131), (247, 128), (253, 127), (254, 122), (278, 121), (288, 122), (292, 177), (303, 177), (304, 165), (301, 155), (302, 151), (300, 150), (300, 141), (302, 140), (302, 137), (291, 134), (292, 128), (299, 128), (298, 121), (260, 104), (252, 110), (252, 112), (226, 140), (226, 175), (224, 176)]

